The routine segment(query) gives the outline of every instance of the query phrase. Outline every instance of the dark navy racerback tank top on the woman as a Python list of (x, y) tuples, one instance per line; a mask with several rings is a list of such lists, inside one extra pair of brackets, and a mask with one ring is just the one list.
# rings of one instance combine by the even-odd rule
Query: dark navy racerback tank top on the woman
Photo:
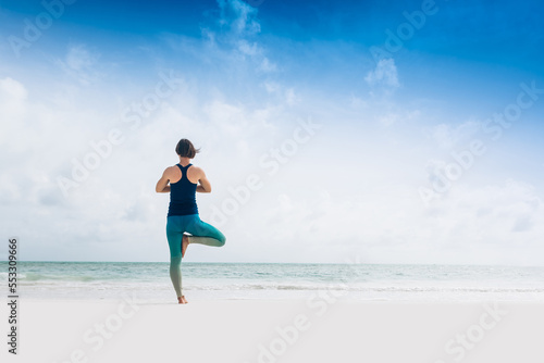
[(182, 171), (182, 178), (177, 183), (170, 183), (170, 205), (168, 216), (198, 214), (196, 198), (197, 185), (190, 183), (187, 178), (187, 170), (193, 164), (188, 164), (187, 166), (176, 165)]

